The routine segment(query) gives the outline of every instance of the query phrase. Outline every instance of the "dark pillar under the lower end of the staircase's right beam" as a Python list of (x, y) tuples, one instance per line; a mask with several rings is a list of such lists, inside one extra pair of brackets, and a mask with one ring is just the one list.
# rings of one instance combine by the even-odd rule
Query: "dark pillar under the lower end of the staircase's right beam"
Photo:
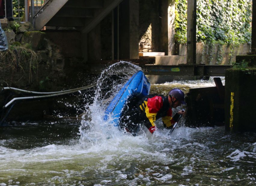
[(88, 33), (88, 60), (101, 59), (100, 24)]

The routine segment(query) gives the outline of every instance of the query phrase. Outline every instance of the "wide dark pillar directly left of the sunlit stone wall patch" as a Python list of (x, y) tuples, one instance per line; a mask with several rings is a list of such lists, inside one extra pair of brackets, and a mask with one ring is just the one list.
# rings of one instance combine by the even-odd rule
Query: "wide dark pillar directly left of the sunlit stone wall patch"
[(139, 58), (139, 0), (119, 4), (119, 59)]

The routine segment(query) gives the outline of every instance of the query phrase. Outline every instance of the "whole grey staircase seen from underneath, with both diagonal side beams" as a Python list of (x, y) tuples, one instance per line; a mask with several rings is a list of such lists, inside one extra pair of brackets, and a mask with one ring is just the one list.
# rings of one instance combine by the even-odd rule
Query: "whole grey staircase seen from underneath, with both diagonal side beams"
[(49, 0), (35, 18), (35, 29), (44, 26), (76, 27), (88, 33), (122, 0)]

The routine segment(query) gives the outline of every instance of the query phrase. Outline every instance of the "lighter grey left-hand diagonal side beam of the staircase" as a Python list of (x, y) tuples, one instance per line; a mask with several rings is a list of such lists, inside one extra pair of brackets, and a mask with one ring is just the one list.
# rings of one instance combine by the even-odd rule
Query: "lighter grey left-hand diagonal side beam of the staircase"
[(35, 29), (41, 30), (47, 22), (66, 4), (68, 0), (54, 0), (35, 20)]

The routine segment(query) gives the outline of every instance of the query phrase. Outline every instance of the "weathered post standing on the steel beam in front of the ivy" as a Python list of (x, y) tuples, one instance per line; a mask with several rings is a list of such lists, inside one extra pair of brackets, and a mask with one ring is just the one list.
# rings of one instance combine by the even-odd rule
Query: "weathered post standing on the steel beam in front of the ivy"
[(187, 1), (187, 64), (196, 64), (196, 0)]

